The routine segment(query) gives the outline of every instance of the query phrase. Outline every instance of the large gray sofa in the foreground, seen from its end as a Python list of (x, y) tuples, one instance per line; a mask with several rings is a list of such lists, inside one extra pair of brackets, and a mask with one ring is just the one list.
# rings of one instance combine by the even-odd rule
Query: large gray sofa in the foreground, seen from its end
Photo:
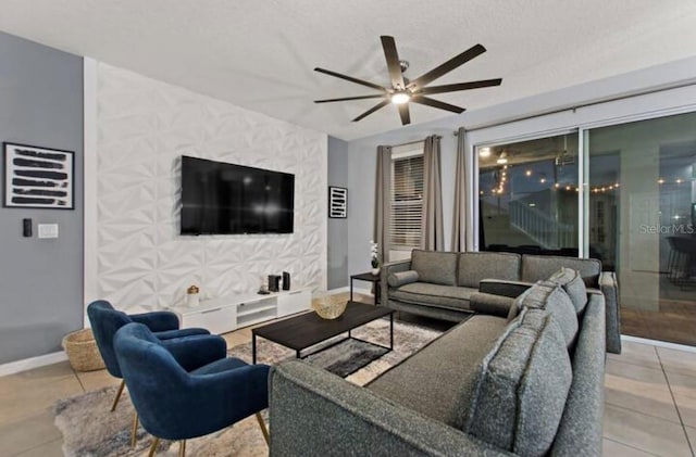
[(605, 299), (570, 284), (527, 285), (508, 316), (474, 315), (364, 388), (273, 367), (270, 455), (601, 455)]

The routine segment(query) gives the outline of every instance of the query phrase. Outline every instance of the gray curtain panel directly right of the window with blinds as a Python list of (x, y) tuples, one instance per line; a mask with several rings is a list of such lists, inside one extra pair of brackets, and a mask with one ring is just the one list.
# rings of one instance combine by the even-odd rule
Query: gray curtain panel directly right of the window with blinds
[(423, 147), (423, 232), (421, 247), (430, 251), (445, 249), (443, 231), (443, 183), (440, 178), (439, 137), (432, 135)]

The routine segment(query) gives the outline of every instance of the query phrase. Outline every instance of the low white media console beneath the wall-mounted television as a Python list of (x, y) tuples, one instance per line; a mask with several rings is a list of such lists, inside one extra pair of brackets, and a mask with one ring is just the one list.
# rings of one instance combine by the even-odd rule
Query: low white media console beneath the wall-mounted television
[(200, 305), (195, 307), (177, 305), (169, 310), (178, 315), (182, 328), (201, 327), (211, 333), (220, 334), (308, 310), (311, 302), (310, 289), (297, 289), (269, 295), (226, 295), (201, 301)]

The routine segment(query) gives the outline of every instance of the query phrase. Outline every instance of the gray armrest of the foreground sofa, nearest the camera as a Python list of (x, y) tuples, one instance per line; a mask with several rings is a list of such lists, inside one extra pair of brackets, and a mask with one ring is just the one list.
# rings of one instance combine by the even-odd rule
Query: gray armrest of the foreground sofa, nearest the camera
[(269, 377), (271, 456), (511, 456), (303, 361)]

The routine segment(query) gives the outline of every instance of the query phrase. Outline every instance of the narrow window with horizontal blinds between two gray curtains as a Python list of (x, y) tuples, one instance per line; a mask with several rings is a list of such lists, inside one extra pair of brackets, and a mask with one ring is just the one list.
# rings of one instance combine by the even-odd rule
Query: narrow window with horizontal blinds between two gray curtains
[(391, 250), (421, 244), (423, 213), (423, 154), (391, 161)]

